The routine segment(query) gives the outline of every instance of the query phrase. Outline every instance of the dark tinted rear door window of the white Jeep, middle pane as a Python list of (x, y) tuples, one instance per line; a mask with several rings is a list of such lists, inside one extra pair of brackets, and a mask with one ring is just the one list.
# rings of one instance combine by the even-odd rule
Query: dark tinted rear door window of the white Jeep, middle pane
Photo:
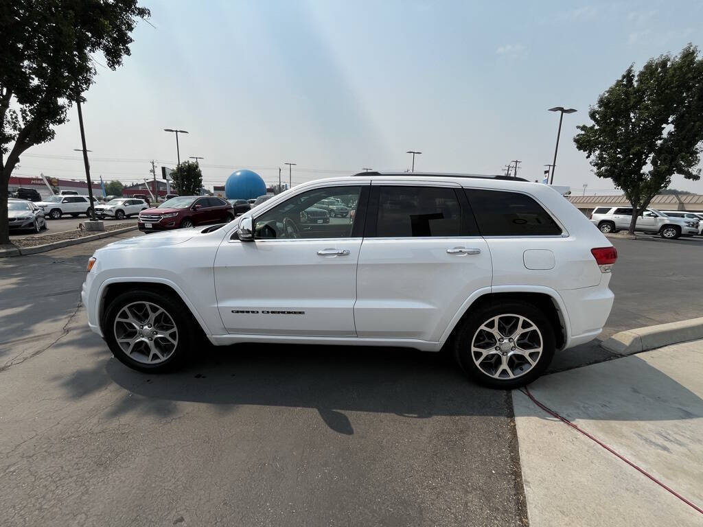
[(461, 230), (461, 207), (453, 188), (380, 188), (378, 238), (461, 236)]

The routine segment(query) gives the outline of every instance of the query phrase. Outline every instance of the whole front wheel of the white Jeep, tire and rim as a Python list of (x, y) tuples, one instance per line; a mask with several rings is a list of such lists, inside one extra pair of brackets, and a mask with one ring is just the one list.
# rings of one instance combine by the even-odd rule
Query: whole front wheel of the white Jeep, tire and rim
[(174, 294), (124, 292), (110, 302), (103, 334), (121, 363), (142, 372), (162, 372), (183, 363), (197, 328)]

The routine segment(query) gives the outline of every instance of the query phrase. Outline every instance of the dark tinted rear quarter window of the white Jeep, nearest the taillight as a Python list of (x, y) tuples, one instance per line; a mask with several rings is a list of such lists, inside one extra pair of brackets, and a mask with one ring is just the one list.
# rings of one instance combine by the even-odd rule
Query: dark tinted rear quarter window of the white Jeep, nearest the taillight
[(484, 236), (560, 235), (561, 228), (528, 195), (503, 190), (466, 190)]

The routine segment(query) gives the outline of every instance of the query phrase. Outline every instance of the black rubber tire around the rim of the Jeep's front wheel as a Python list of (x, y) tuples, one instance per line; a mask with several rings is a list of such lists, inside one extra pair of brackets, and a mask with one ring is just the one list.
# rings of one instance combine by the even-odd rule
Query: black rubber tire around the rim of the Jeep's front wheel
[[(122, 308), (138, 302), (148, 302), (155, 304), (167, 311), (177, 328), (177, 344), (168, 358), (157, 364), (147, 364), (135, 360), (129, 356), (117, 343), (115, 334), (115, 318), (122, 311)], [(160, 373), (176, 369), (183, 365), (188, 359), (188, 354), (193, 344), (193, 336), (197, 334), (199, 328), (196, 326), (188, 308), (174, 293), (160, 293), (149, 291), (148, 289), (132, 290), (119, 294), (110, 301), (110, 305), (105, 310), (102, 323), (105, 342), (108, 343), (112, 355), (121, 363), (131, 367), (133, 370), (147, 373)], [(156, 340), (156, 339), (155, 339)]]

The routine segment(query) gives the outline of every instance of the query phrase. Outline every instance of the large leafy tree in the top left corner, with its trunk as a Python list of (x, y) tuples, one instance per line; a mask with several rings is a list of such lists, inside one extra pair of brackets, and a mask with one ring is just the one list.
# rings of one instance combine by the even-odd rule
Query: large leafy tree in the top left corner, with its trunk
[(8, 183), (20, 155), (66, 122), (94, 82), (93, 53), (115, 70), (148, 16), (137, 0), (0, 1), (0, 244), (9, 242)]

